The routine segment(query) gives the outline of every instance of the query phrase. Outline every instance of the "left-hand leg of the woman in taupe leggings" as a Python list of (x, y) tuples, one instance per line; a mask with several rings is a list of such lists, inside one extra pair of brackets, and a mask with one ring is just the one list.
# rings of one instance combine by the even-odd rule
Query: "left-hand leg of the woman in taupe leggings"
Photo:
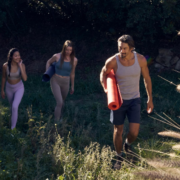
[(55, 117), (55, 121), (59, 121), (60, 116), (61, 116), (63, 99), (62, 99), (62, 95), (61, 95), (61, 88), (60, 88), (59, 82), (57, 81), (56, 78), (58, 78), (58, 77), (56, 77), (54, 75), (51, 78), (50, 84), (51, 84), (52, 93), (56, 99), (56, 107), (55, 107), (55, 111), (54, 111), (54, 117)]

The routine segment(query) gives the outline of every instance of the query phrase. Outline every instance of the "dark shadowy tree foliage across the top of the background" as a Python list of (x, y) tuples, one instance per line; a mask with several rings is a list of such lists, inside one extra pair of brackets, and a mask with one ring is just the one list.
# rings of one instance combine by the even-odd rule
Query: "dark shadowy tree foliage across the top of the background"
[(21, 31), (45, 19), (71, 22), (111, 34), (128, 32), (142, 41), (174, 36), (179, 30), (178, 0), (3, 0), (0, 27)]

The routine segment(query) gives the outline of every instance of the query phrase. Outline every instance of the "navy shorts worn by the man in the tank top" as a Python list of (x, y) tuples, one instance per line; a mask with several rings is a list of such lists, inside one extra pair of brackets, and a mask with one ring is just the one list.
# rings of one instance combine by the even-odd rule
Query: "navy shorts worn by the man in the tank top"
[(114, 125), (124, 124), (127, 116), (129, 123), (140, 123), (141, 99), (135, 98), (123, 100), (122, 106), (118, 110), (111, 110), (110, 121)]

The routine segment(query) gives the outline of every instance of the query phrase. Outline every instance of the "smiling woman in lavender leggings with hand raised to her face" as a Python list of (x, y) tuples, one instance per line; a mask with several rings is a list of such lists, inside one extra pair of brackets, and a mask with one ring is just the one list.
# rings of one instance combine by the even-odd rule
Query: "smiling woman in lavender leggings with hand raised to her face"
[[(6, 92), (11, 106), (11, 129), (14, 129), (18, 119), (18, 107), (24, 94), (24, 85), (21, 79), (27, 80), (25, 65), (22, 63), (18, 49), (10, 49), (7, 62), (3, 64), (2, 69), (1, 97), (4, 99)], [(4, 92), (5, 83), (6, 90)]]

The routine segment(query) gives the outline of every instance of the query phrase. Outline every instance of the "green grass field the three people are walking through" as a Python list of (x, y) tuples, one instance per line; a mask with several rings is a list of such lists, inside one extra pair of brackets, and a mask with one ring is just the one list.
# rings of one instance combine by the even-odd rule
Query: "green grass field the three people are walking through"
[[(106, 95), (99, 82), (100, 70), (101, 66), (77, 69), (75, 93), (69, 94), (66, 99), (61, 124), (54, 125), (55, 99), (50, 84), (43, 83), (41, 75), (29, 75), (28, 81), (24, 83), (25, 94), (19, 106), (17, 128), (13, 131), (10, 130), (8, 101), (1, 100), (0, 179), (134, 178), (135, 169), (130, 165), (124, 165), (119, 172), (111, 168), (113, 125), (109, 121)], [(179, 83), (175, 72), (164, 72), (161, 76)], [(160, 115), (164, 112), (180, 123), (177, 117), (180, 112), (180, 94), (175, 86), (157, 75), (152, 76), (152, 83), (155, 112)], [(142, 79), (140, 89), (141, 128), (133, 144), (135, 152), (146, 159), (168, 158), (167, 155), (143, 150), (171, 153), (171, 147), (177, 140), (157, 135), (165, 129), (174, 129), (148, 117), (147, 96)], [(150, 116), (157, 117), (156, 114)], [(127, 132), (126, 122), (123, 137)], [(141, 168), (144, 166), (136, 165)]]

